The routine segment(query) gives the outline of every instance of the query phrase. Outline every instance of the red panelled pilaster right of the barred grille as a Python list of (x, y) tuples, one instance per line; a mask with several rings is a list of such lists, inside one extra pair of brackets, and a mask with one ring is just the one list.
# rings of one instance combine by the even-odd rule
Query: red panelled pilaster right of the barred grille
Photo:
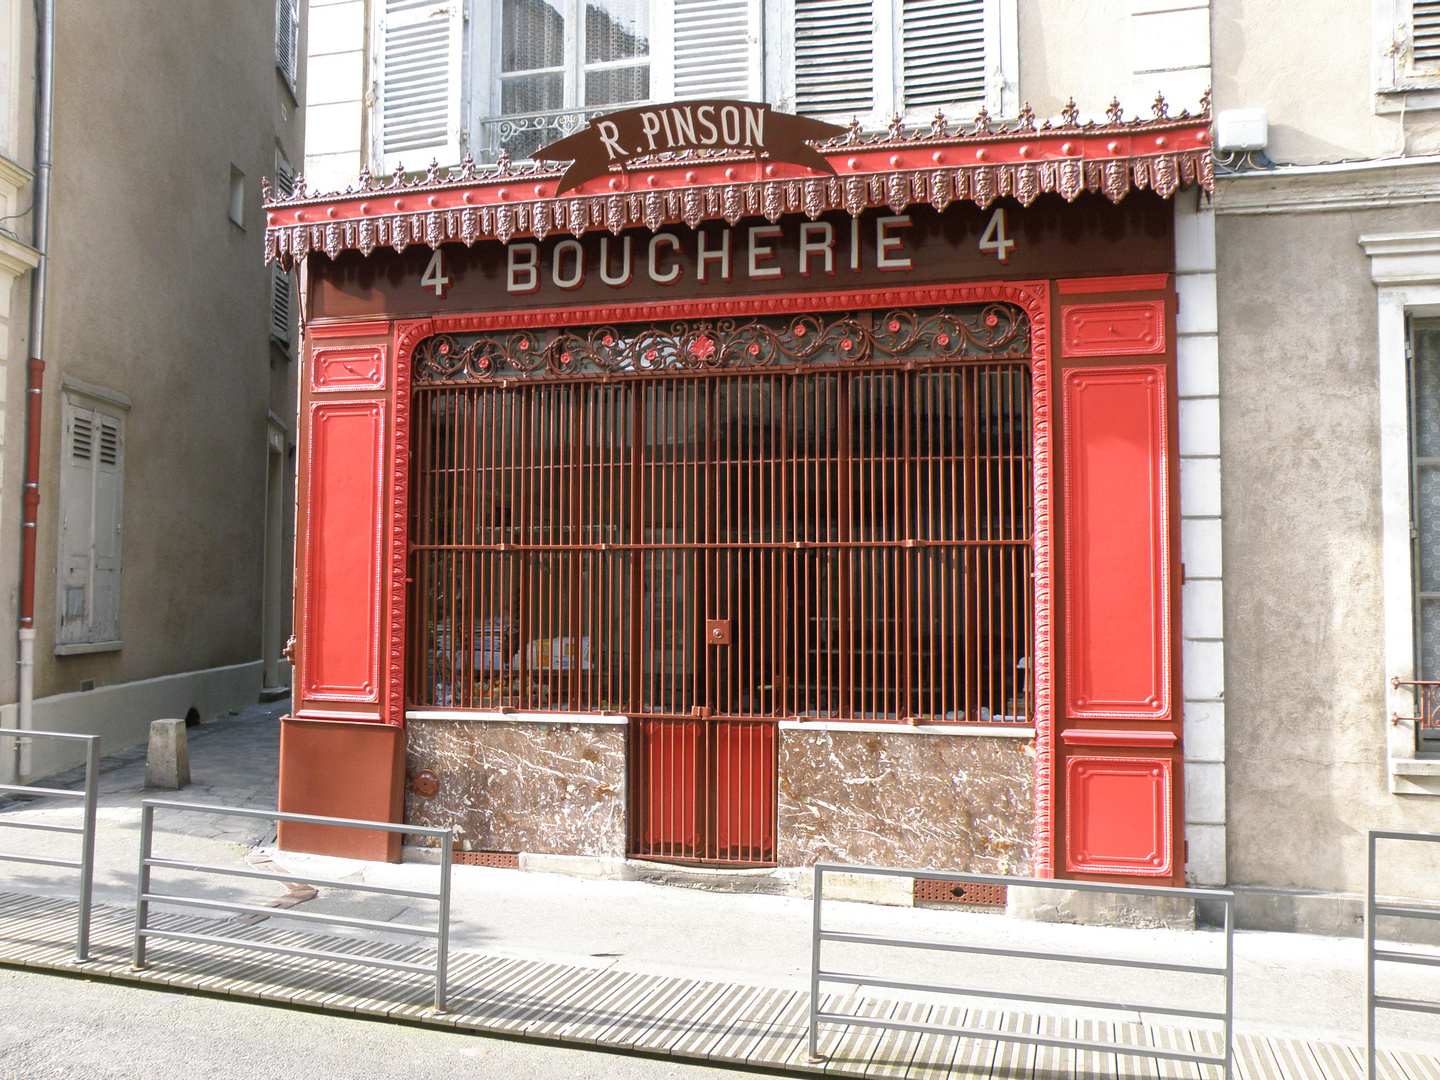
[(1061, 282), (1056, 871), (1184, 881), (1174, 297)]

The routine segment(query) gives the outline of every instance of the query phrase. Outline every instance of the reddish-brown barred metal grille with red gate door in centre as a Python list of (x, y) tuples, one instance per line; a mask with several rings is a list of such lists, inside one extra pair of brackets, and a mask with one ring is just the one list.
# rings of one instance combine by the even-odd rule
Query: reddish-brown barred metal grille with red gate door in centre
[(632, 854), (773, 863), (779, 719), (1030, 720), (1028, 357), (415, 405), (410, 706), (629, 716)]

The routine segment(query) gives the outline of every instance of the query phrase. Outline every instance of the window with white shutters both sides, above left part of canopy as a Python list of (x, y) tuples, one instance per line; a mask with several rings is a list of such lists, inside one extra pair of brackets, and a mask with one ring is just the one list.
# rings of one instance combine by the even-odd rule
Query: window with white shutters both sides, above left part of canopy
[(599, 112), (760, 99), (765, 3), (376, 0), (372, 160), (520, 160)]

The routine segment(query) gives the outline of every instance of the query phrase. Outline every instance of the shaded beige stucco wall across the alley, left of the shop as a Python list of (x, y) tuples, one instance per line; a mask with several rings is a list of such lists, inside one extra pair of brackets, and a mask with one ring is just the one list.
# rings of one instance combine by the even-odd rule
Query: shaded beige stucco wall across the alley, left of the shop
[[(17, 9), (27, 32), (29, 3), (0, 0), (0, 22)], [(33, 72), (33, 40), (17, 42), (19, 50)], [(301, 158), (302, 111), (275, 68), (274, 0), (174, 4), (163, 19), (143, 0), (60, 4), (55, 63), (36, 697), (73, 693), (94, 680), (96, 687), (137, 687), (134, 707), (144, 711), (154, 697), (141, 693), (145, 680), (173, 677), (174, 685), (186, 685), (187, 672), (259, 660), (266, 416), (279, 416), (292, 441), (295, 412), (295, 364), (269, 340), (259, 186), (275, 170), (278, 144), (291, 160)], [(12, 124), (10, 144), (27, 166), (33, 81), (26, 75), (9, 85), (16, 92), (0, 94), (0, 114), (10, 108), (22, 118)], [(229, 219), (232, 164), (245, 174), (243, 228)], [(24, 192), (23, 204), (29, 197)], [(16, 698), (27, 285), (10, 300), (0, 703)], [(124, 648), (117, 652), (53, 652), (66, 376), (132, 402), (125, 426)], [(294, 456), (287, 461), (292, 468)], [(292, 505), (292, 488), (284, 504)], [(287, 531), (287, 579), (288, 563)], [(200, 697), (209, 704), (197, 698), (196, 706), (225, 711), (253, 703), (251, 681), (235, 681), (225, 701), (209, 701), (215, 694), (206, 691)], [(112, 707), (124, 711), (127, 700), (120, 696)]]

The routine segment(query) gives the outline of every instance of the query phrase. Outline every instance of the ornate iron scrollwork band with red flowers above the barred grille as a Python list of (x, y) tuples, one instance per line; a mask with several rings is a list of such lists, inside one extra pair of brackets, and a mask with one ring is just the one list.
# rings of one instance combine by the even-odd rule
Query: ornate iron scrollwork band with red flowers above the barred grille
[(698, 318), (585, 330), (439, 334), (415, 350), (415, 383), (661, 372), (835, 367), (901, 360), (1017, 359), (1030, 353), (1030, 323), (1009, 304), (805, 314), (792, 318)]

